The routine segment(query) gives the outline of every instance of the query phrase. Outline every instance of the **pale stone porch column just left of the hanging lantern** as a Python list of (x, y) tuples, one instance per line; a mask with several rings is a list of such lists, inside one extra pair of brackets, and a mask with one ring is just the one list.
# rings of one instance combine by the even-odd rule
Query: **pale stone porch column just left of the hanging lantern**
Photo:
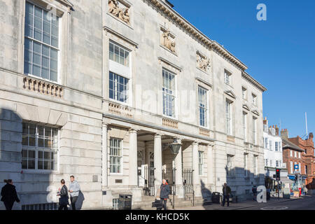
[(162, 136), (155, 134), (154, 136), (154, 185), (155, 193), (162, 183)]

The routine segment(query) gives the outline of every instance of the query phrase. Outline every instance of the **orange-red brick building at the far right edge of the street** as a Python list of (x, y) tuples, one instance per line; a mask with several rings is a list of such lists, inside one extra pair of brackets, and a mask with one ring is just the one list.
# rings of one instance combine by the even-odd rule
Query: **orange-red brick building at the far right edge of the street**
[(302, 168), (304, 173), (307, 174), (306, 184), (309, 189), (315, 189), (315, 156), (313, 137), (313, 133), (309, 133), (309, 137), (305, 140), (299, 136), (288, 139), (288, 141), (304, 150), (304, 153), (302, 153)]

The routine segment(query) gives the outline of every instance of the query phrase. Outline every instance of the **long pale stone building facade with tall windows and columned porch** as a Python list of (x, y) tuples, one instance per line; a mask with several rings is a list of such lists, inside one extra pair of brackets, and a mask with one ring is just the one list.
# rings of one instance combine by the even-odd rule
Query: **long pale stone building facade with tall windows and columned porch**
[(120, 193), (140, 203), (149, 173), (150, 195), (163, 178), (177, 197), (228, 183), (244, 200), (264, 183), (265, 87), (167, 1), (0, 5), (0, 176), (24, 209), (57, 202), (71, 174), (83, 209), (111, 208)]

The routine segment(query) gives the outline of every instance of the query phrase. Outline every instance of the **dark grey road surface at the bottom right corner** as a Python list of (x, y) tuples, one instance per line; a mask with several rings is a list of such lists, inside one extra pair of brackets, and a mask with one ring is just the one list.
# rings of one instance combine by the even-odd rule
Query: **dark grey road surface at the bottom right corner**
[(287, 202), (258, 204), (255, 207), (239, 208), (239, 210), (315, 210), (315, 195), (307, 195), (301, 199)]

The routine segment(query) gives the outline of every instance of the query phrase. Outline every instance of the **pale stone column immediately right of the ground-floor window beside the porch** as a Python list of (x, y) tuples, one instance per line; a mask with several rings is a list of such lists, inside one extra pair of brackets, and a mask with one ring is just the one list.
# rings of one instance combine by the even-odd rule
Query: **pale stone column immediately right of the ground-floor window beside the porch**
[(129, 185), (138, 185), (137, 130), (129, 131)]

